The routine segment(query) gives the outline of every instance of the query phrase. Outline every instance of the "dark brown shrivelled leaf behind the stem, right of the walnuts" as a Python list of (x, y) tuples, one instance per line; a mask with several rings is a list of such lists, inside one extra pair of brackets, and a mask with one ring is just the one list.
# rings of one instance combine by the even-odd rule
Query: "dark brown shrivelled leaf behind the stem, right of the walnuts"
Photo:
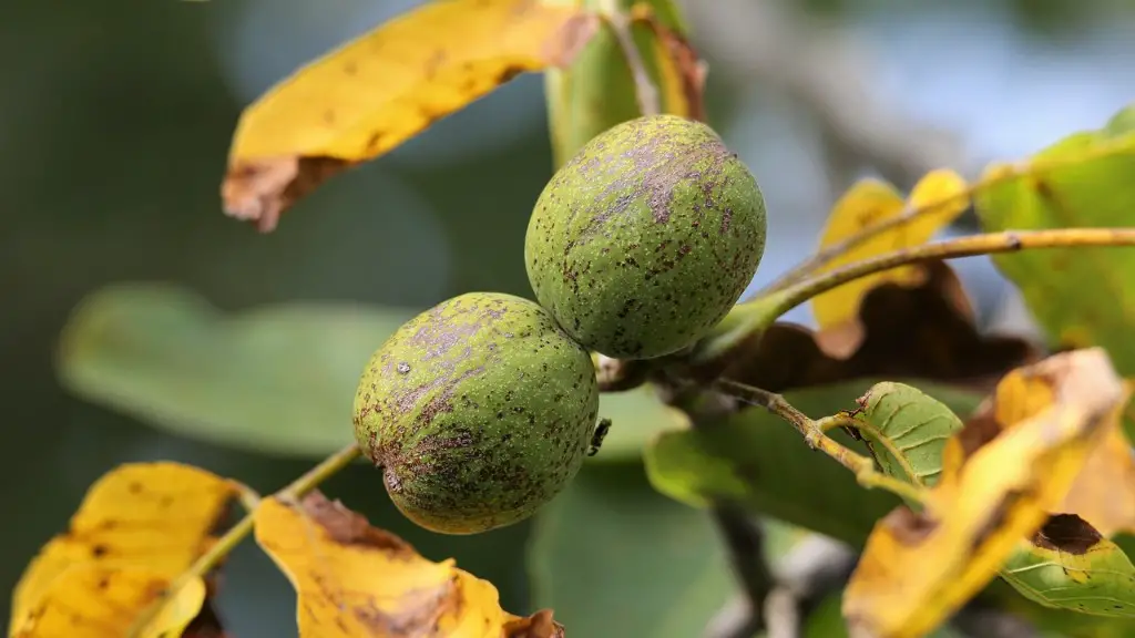
[(1039, 353), (1016, 337), (984, 336), (953, 270), (944, 262), (925, 265), (926, 278), (915, 287), (884, 282), (859, 305), (863, 337), (847, 358), (827, 354), (843, 344), (835, 330), (809, 330), (779, 322), (734, 369), (739, 381), (785, 392), (850, 379), (927, 379), (985, 391), (1006, 371), (1035, 361)]

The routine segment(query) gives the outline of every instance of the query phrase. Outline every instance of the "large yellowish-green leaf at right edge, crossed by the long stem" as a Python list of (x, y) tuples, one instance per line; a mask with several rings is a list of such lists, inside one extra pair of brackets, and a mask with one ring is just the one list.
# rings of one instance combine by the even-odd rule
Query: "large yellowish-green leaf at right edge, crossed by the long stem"
[[(1135, 226), (1135, 106), (1101, 131), (1070, 135), (1037, 153), (1026, 175), (975, 198), (986, 230)], [(991, 167), (987, 177), (1004, 175)], [(1107, 349), (1135, 375), (1135, 250), (1069, 247), (994, 255), (1053, 345)]]

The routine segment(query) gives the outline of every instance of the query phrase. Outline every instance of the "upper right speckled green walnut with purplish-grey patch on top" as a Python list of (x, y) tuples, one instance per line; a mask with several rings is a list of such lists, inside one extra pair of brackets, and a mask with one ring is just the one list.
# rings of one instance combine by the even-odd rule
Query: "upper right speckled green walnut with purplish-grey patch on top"
[(662, 115), (588, 142), (548, 182), (524, 261), (540, 304), (586, 347), (653, 359), (693, 344), (765, 251), (749, 169), (705, 124)]

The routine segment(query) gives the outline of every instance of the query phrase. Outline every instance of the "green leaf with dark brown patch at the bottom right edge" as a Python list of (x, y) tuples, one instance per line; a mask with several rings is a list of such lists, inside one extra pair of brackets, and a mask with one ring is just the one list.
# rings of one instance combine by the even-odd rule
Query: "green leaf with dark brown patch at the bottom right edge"
[(1135, 565), (1075, 514), (1051, 517), (1022, 540), (1001, 578), (1048, 607), (1135, 619)]

